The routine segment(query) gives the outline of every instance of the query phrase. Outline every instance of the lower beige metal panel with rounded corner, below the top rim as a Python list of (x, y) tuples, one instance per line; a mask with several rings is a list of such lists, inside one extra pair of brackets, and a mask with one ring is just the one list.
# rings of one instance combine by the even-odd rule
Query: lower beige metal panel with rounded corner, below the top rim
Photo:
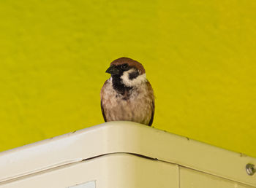
[(94, 180), (97, 188), (178, 188), (178, 165), (132, 154), (107, 154), (0, 184), (0, 187), (64, 188)]

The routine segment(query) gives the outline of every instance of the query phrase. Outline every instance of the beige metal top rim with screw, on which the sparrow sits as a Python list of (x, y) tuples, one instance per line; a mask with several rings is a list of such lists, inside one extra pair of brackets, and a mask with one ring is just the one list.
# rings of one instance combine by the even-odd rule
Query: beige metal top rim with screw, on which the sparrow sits
[(1, 152), (0, 182), (114, 152), (141, 154), (256, 187), (256, 174), (249, 176), (245, 169), (256, 164), (255, 158), (135, 122), (107, 122)]

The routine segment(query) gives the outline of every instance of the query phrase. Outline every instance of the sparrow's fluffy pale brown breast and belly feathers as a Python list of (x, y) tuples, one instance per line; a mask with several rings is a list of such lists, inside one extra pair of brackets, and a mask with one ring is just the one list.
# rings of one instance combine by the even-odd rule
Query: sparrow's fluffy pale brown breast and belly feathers
[(129, 120), (148, 124), (151, 120), (154, 94), (149, 82), (118, 93), (108, 79), (101, 90), (102, 108), (108, 121)]

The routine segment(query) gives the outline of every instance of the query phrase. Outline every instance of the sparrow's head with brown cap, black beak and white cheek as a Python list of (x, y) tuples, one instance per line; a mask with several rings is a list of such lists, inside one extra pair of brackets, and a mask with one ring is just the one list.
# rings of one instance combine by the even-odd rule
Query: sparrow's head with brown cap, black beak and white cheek
[(119, 80), (127, 87), (136, 87), (146, 82), (146, 72), (142, 64), (130, 58), (118, 58), (110, 63), (106, 71), (112, 79)]

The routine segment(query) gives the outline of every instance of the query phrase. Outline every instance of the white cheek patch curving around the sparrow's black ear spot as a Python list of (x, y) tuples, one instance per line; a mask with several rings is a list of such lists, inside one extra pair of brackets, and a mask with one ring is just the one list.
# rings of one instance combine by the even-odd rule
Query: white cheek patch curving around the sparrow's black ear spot
[(135, 79), (129, 79), (129, 74), (135, 71), (134, 69), (130, 69), (129, 71), (125, 71), (124, 74), (121, 76), (121, 80), (123, 81), (124, 85), (132, 87), (136, 85), (140, 85), (143, 82), (146, 82), (146, 74), (140, 74)]

